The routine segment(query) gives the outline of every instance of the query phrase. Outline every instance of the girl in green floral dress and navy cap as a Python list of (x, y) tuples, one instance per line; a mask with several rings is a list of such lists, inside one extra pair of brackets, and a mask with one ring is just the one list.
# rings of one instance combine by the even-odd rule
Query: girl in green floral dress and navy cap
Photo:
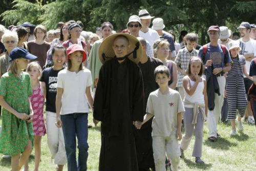
[(36, 56), (23, 48), (14, 48), (10, 58), (10, 67), (0, 84), (0, 105), (3, 107), (0, 153), (11, 155), (12, 170), (20, 170), (33, 146), (33, 109), (29, 99), (32, 87), (29, 74), (23, 70)]

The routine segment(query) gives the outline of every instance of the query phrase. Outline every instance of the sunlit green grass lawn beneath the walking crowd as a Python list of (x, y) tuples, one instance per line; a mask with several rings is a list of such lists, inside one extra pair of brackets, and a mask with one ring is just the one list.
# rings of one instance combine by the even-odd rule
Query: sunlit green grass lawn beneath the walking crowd
[[(89, 115), (89, 123), (92, 122), (92, 114)], [(1, 123), (2, 124), (2, 121)], [(191, 157), (194, 140), (190, 142), (185, 158), (180, 160), (180, 170), (256, 170), (256, 132), (255, 126), (245, 123), (244, 133), (230, 137), (230, 124), (218, 124), (218, 132), (221, 137), (216, 142), (207, 140), (207, 127), (204, 125), (203, 156), (205, 164), (195, 164), (195, 158)], [(184, 133), (183, 133), (184, 134)], [(89, 157), (88, 170), (98, 170), (100, 151), (100, 127), (89, 129)], [(50, 151), (47, 146), (47, 136), (42, 138), (41, 162), (39, 170), (55, 170), (55, 165), (51, 160)], [(0, 155), (0, 170), (10, 170), (10, 159), (2, 159)], [(34, 169), (34, 151), (30, 156), (30, 170)], [(64, 167), (67, 170), (67, 165)]]

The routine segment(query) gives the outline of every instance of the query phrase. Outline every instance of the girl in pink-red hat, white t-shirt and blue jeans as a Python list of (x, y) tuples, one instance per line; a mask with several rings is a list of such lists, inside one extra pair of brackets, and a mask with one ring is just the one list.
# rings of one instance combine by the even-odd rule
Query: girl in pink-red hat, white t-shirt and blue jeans
[[(74, 44), (67, 49), (68, 68), (61, 70), (57, 78), (56, 125), (62, 126), (68, 170), (87, 170), (88, 158), (88, 113), (93, 109), (90, 87), (92, 76), (82, 67), (86, 52)], [(78, 162), (76, 161), (76, 138)]]

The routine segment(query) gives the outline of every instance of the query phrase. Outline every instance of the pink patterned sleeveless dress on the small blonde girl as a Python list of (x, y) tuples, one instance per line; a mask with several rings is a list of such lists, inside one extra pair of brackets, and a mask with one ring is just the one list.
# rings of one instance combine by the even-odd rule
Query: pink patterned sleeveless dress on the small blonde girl
[(38, 86), (36, 90), (33, 90), (32, 96), (29, 99), (34, 112), (32, 120), (34, 135), (44, 136), (46, 135), (46, 125), (44, 120), (45, 97), (42, 95), (40, 86)]

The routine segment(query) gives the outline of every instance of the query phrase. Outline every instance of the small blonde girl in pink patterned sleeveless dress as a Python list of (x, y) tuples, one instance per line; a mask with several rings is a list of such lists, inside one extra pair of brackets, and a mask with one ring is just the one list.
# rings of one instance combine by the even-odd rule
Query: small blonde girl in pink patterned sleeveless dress
[[(34, 146), (35, 146), (35, 168), (38, 170), (41, 158), (41, 138), (46, 134), (46, 126), (44, 120), (44, 103), (45, 97), (42, 92), (42, 86), (39, 78), (42, 69), (38, 62), (31, 62), (27, 67), (27, 72), (31, 78), (32, 96), (29, 98), (34, 112), (32, 120), (34, 130)], [(28, 162), (26, 163), (25, 170), (28, 170)]]

